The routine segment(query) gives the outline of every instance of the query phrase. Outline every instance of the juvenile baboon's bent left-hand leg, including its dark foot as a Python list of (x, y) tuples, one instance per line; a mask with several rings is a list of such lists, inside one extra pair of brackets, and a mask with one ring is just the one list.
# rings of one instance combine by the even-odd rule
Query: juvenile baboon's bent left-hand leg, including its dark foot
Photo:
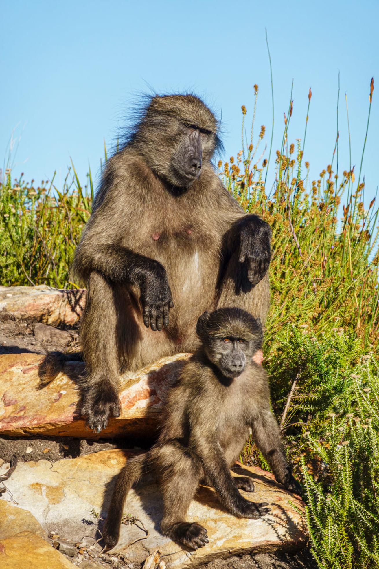
[(160, 448), (156, 460), (157, 468), (163, 472), (161, 532), (191, 549), (203, 547), (209, 541), (205, 527), (185, 521), (188, 506), (203, 475), (199, 459), (180, 444), (173, 443)]

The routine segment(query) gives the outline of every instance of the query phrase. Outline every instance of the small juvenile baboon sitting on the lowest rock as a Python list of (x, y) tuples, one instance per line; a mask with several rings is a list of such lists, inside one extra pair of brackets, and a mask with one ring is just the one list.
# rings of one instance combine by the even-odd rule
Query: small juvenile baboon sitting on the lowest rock
[(128, 460), (116, 481), (103, 529), (107, 547), (118, 542), (128, 491), (149, 471), (157, 476), (163, 494), (161, 532), (186, 547), (198, 549), (208, 542), (204, 527), (185, 521), (201, 480), (214, 486), (235, 516), (265, 516), (266, 502), (251, 502), (238, 491), (253, 492), (251, 478), (234, 478), (229, 469), (250, 428), (276, 480), (291, 492), (301, 492), (270, 410), (266, 373), (252, 360), (262, 344), (260, 321), (240, 308), (219, 308), (200, 316), (196, 331), (201, 347), (169, 390), (157, 443)]

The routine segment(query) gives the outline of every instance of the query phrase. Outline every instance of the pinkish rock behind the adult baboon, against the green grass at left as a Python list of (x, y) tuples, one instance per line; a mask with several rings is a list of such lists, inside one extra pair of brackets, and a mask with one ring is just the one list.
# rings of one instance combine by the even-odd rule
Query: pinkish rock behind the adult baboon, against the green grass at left
[(0, 318), (73, 325), (80, 319), (85, 299), (85, 288), (60, 290), (45, 284), (0, 286)]

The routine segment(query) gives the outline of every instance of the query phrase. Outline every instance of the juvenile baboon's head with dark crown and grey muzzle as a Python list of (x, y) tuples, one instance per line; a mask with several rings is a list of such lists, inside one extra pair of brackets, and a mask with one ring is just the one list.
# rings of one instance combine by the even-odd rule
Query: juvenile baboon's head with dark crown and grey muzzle
[(196, 331), (206, 356), (226, 377), (240, 376), (263, 340), (260, 320), (235, 307), (204, 312)]

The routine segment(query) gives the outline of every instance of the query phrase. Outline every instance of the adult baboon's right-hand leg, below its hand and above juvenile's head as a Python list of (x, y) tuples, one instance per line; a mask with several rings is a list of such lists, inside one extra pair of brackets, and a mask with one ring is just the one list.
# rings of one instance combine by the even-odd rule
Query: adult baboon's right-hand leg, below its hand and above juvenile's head
[(216, 308), (236, 306), (250, 312), (265, 323), (270, 307), (270, 283), (268, 274), (253, 286), (247, 278), (247, 263), (238, 261), (234, 251), (218, 287)]

